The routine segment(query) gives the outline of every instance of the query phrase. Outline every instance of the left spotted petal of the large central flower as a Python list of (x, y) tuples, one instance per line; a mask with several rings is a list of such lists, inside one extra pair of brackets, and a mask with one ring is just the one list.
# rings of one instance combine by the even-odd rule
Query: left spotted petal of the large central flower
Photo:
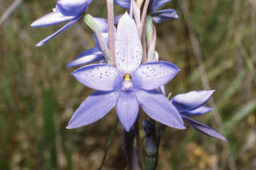
[(90, 64), (72, 72), (85, 86), (95, 90), (121, 90), (123, 76), (117, 68), (109, 64)]

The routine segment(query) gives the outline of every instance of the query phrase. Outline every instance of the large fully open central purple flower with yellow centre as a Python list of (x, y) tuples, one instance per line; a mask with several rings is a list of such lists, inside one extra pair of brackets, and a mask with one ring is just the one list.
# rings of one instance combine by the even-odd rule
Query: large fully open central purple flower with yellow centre
[(173, 104), (155, 90), (179, 72), (170, 62), (141, 63), (141, 41), (133, 19), (123, 15), (115, 37), (117, 68), (109, 64), (91, 64), (72, 74), (85, 86), (97, 90), (91, 94), (71, 118), (67, 129), (91, 124), (105, 116), (115, 105), (126, 131), (133, 126), (139, 105), (154, 120), (173, 128), (184, 129)]

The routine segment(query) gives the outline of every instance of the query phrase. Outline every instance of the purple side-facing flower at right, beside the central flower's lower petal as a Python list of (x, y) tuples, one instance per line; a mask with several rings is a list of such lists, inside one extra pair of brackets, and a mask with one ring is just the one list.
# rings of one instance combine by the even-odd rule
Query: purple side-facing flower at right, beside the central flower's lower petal
[(209, 126), (197, 122), (187, 116), (199, 116), (202, 114), (206, 114), (212, 111), (212, 108), (207, 106), (203, 106), (209, 98), (211, 98), (213, 92), (215, 90), (202, 90), (202, 91), (192, 91), (186, 94), (178, 94), (173, 99), (171, 99), (171, 103), (178, 110), (179, 114), (181, 114), (181, 118), (185, 120), (191, 128), (196, 129), (197, 131), (204, 133), (206, 135), (210, 135), (212, 137), (216, 137), (223, 141), (227, 141), (223, 135), (218, 133)]

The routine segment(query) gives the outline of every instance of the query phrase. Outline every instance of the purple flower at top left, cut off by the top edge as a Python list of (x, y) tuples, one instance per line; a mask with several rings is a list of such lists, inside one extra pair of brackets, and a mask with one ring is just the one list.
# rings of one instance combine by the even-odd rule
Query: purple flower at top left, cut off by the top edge
[(34, 21), (31, 24), (31, 27), (45, 27), (49, 25), (55, 25), (57, 23), (61, 23), (63, 21), (69, 21), (64, 27), (59, 29), (56, 33), (53, 33), (46, 39), (40, 41), (36, 46), (42, 46), (45, 42), (53, 39), (56, 35), (59, 35), (62, 31), (69, 29), (71, 25), (79, 20), (87, 11), (89, 3), (92, 0), (61, 0), (57, 2), (56, 8), (53, 9), (53, 13), (49, 13), (37, 21)]

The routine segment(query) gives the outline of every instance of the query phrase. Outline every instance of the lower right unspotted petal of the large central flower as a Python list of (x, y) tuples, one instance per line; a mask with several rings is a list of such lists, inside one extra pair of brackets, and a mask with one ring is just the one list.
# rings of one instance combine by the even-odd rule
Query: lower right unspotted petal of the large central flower
[(179, 112), (169, 100), (155, 90), (135, 90), (139, 104), (153, 120), (172, 128), (185, 129)]

